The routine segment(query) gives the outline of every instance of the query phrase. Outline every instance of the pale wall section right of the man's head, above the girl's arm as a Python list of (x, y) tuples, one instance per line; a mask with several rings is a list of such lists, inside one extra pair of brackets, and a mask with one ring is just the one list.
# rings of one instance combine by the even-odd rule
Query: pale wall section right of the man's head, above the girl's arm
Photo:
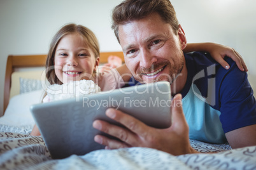
[(256, 1), (173, 0), (171, 3), (188, 42), (217, 42), (231, 46), (243, 56), (248, 79), (256, 91)]

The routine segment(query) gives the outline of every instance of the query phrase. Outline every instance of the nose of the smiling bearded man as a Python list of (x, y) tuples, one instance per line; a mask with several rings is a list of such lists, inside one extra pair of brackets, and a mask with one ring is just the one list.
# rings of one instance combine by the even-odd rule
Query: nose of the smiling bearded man
[(149, 69), (153, 63), (157, 62), (156, 56), (153, 55), (153, 53), (150, 52), (149, 50), (142, 50), (140, 55), (141, 57), (140, 57), (139, 65), (141, 67)]

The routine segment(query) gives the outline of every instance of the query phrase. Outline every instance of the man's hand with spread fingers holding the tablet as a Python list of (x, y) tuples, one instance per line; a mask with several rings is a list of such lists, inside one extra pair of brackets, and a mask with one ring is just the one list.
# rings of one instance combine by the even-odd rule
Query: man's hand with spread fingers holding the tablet
[(148, 147), (162, 150), (169, 154), (181, 155), (196, 153), (188, 140), (188, 125), (183, 115), (181, 95), (176, 95), (172, 101), (172, 125), (167, 129), (156, 129), (146, 126), (131, 115), (124, 114), (120, 110), (110, 108), (106, 115), (111, 119), (120, 122), (126, 128), (115, 126), (105, 121), (96, 120), (93, 126), (104, 133), (115, 136), (121, 141), (96, 135), (94, 140), (97, 143), (106, 145), (106, 148), (115, 149), (123, 147)]

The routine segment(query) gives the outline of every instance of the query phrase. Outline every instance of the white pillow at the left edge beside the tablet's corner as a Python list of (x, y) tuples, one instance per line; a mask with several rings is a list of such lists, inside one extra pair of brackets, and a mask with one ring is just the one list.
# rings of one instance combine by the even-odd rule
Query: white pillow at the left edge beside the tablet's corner
[(32, 104), (41, 103), (43, 89), (23, 93), (11, 98), (3, 117), (0, 117), (0, 124), (10, 126), (25, 126), (34, 124), (29, 107)]

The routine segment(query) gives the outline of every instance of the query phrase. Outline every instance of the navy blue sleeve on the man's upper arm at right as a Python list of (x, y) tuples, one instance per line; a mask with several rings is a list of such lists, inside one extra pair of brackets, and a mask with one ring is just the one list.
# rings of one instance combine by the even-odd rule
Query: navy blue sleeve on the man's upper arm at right
[(233, 62), (220, 83), (220, 121), (224, 133), (256, 124), (256, 102), (246, 72)]

